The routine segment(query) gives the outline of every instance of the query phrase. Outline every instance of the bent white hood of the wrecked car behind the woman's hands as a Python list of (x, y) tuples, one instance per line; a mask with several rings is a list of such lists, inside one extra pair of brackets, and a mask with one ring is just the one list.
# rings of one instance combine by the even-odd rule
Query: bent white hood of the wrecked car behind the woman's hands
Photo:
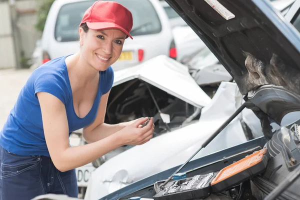
[(112, 86), (134, 78), (142, 79), (196, 107), (203, 107), (211, 100), (190, 76), (186, 66), (165, 55), (115, 71)]

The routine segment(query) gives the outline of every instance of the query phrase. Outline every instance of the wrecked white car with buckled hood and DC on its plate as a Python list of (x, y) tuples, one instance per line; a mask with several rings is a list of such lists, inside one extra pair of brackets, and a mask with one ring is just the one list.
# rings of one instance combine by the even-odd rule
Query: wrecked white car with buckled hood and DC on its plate
[[(211, 98), (195, 83), (185, 65), (166, 55), (159, 55), (114, 72), (104, 122), (116, 124), (153, 116), (153, 137), (156, 137), (197, 122), (201, 109), (210, 101)], [(70, 143), (72, 146), (86, 143), (82, 130), (71, 134)], [(121, 146), (92, 163), (77, 167), (80, 195), (84, 196), (90, 173), (95, 168), (131, 147), (133, 145)]]

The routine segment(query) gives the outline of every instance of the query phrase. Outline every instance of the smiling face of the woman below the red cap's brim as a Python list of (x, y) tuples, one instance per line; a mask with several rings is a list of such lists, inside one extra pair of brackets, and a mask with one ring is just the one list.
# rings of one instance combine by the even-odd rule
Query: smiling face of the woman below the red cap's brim
[(79, 29), (81, 54), (97, 71), (106, 70), (122, 52), (126, 34), (119, 29)]

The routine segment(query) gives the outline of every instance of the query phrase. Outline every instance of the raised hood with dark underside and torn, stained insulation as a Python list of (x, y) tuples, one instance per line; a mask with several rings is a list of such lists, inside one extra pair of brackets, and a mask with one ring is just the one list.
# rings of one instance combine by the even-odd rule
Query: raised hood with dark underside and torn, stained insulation
[[(268, 0), (165, 1), (215, 54), (242, 94), (270, 84), (300, 94), (298, 32)], [(286, 106), (276, 105), (277, 114), (284, 112)], [(289, 111), (295, 110), (299, 107)]]

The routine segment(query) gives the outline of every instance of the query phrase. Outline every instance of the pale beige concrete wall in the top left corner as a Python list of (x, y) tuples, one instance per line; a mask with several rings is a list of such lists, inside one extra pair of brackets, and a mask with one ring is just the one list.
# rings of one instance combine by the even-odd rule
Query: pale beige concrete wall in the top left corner
[[(30, 58), (41, 32), (35, 29), (37, 9), (43, 0), (0, 1), (0, 69), (19, 68), (21, 51)], [(9, 4), (10, 2), (10, 4)]]

